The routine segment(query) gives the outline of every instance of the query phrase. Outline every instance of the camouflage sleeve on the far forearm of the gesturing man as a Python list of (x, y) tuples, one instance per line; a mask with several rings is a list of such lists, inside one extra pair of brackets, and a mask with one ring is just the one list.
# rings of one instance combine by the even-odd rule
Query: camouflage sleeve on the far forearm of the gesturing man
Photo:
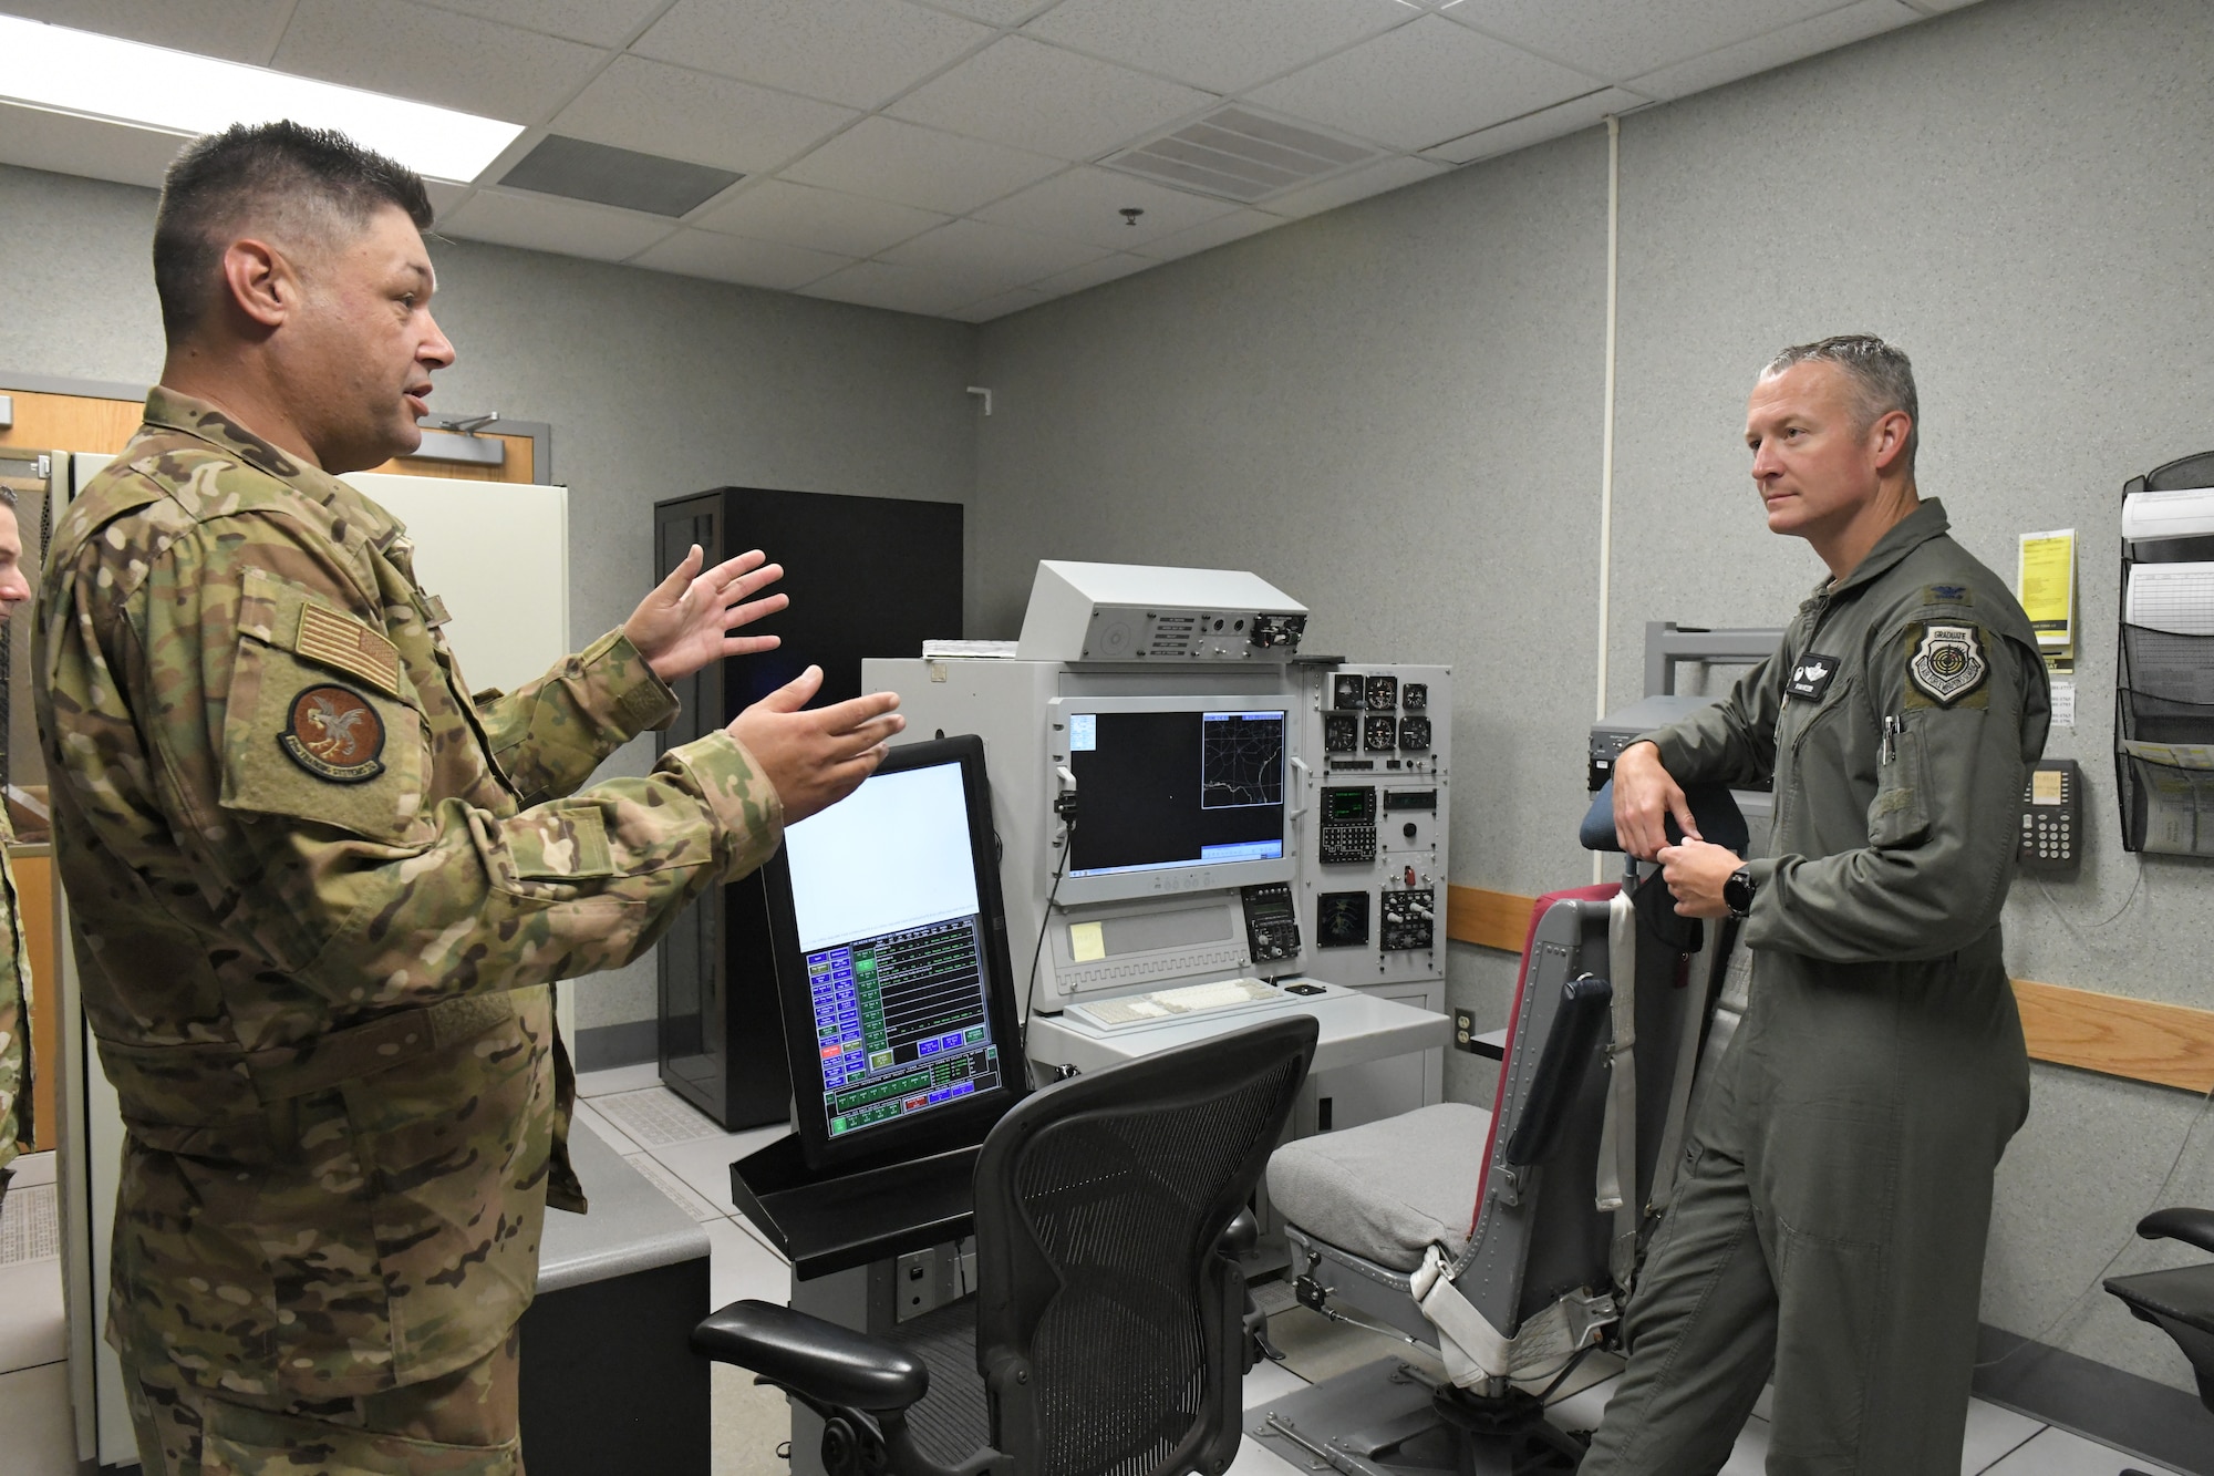
[(529, 687), (476, 703), (494, 760), (525, 804), (576, 793), (600, 760), (675, 716), (677, 694), (620, 629)]

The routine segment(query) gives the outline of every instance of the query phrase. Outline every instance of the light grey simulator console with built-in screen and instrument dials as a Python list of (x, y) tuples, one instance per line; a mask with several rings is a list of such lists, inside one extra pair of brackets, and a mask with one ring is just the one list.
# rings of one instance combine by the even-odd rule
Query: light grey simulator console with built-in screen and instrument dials
[[(1437, 1055), (1452, 674), (1302, 658), (1304, 625), (1253, 574), (1047, 561), (1021, 643), (863, 663), (912, 738), (985, 742), (1034, 1062), (1092, 1068), (1273, 1008), (1324, 1019), (1317, 1070)], [(1147, 1004), (1231, 980), (1269, 991)]]

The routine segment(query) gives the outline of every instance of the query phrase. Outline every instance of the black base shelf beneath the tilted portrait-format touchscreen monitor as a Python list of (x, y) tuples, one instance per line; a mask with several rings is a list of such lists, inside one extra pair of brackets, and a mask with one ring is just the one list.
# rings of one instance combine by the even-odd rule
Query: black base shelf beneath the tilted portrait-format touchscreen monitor
[(731, 1199), (813, 1281), (972, 1234), (979, 1152), (808, 1168), (788, 1132), (731, 1164)]

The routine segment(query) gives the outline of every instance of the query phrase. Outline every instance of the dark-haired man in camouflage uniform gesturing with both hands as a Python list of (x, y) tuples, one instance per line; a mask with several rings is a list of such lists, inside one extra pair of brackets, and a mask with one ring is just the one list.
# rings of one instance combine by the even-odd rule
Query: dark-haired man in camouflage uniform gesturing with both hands
[[(40, 731), (84, 1011), (128, 1130), (108, 1339), (148, 1474), (523, 1469), (516, 1321), (582, 1208), (554, 980), (642, 953), (866, 778), (894, 698), (819, 674), (578, 789), (775, 567), (700, 570), (472, 698), (405, 530), (337, 472), (454, 350), (421, 180), (334, 133), (188, 146), (168, 363), (55, 527)], [(485, 550), (496, 556), (496, 550)]]

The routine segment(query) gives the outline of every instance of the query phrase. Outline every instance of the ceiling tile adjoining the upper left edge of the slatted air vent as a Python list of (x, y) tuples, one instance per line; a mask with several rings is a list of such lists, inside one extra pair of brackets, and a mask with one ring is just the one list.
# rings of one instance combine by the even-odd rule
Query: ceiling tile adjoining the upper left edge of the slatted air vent
[(1003, 35), (888, 111), (994, 144), (1092, 160), (1215, 102), (1127, 66)]

